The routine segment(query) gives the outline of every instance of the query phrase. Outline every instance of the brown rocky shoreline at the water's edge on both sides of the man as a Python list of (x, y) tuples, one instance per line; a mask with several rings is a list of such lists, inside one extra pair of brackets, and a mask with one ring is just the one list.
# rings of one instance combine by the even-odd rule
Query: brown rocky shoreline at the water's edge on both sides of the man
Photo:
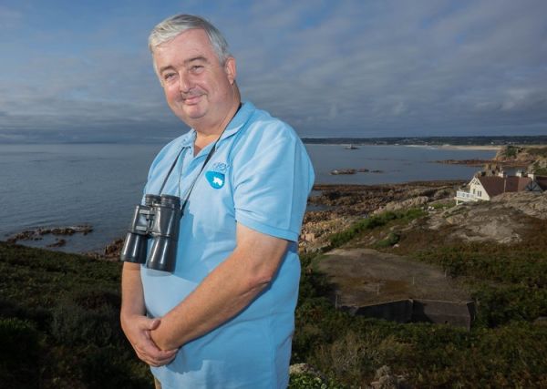
[[(329, 235), (345, 230), (353, 222), (369, 214), (386, 208), (392, 209), (397, 202), (406, 200), (410, 205), (423, 205), (428, 201), (449, 200), (465, 182), (441, 180), (380, 185), (315, 185), (315, 194), (308, 200), (308, 206), (314, 210), (305, 212), (300, 248), (304, 252), (318, 250), (325, 245)], [(41, 241), (46, 235), (53, 235), (56, 236), (56, 241), (46, 245), (46, 248), (55, 250), (67, 243), (67, 237), (75, 234), (87, 235), (91, 231), (93, 227), (89, 225), (36, 228), (16, 233), (6, 241)], [(83, 254), (95, 259), (118, 261), (122, 246), (123, 238), (120, 237), (108, 243), (102, 251)]]

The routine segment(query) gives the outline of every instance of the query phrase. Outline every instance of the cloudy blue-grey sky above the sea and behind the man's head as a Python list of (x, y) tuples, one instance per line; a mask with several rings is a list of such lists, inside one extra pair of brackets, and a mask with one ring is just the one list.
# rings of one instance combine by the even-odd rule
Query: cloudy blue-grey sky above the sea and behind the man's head
[(301, 137), (547, 135), (544, 0), (0, 0), (0, 143), (181, 135), (147, 46), (181, 13)]

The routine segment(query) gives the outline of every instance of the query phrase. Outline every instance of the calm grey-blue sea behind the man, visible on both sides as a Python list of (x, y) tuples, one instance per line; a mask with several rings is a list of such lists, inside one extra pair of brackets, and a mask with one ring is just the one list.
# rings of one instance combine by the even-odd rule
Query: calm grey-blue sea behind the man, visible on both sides
[[(122, 238), (142, 197), (150, 162), (160, 144), (0, 144), (0, 241), (24, 230), (87, 225), (87, 235), (62, 237), (55, 250), (102, 251)], [(495, 150), (408, 146), (305, 145), (317, 184), (382, 184), (470, 179), (476, 167), (437, 163), (491, 159)], [(335, 169), (368, 172), (333, 175)], [(376, 170), (376, 172), (372, 172)], [(57, 237), (58, 238), (58, 237)], [(46, 247), (56, 237), (19, 241)]]

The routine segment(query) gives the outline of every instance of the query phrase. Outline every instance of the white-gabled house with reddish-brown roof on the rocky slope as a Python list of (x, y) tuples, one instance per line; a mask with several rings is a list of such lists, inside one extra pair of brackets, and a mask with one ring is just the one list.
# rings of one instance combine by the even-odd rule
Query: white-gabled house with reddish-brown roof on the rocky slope
[(475, 174), (464, 189), (456, 192), (456, 204), (461, 202), (490, 199), (506, 192), (547, 190), (547, 177), (526, 174), (521, 170), (516, 175), (508, 176), (503, 169), (495, 165), (487, 165), (483, 171)]

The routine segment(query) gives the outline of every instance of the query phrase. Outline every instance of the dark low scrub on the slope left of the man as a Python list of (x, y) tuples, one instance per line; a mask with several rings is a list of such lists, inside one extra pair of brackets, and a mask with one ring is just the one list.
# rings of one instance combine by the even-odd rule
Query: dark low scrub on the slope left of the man
[(119, 263), (0, 242), (3, 388), (150, 388), (119, 327)]

